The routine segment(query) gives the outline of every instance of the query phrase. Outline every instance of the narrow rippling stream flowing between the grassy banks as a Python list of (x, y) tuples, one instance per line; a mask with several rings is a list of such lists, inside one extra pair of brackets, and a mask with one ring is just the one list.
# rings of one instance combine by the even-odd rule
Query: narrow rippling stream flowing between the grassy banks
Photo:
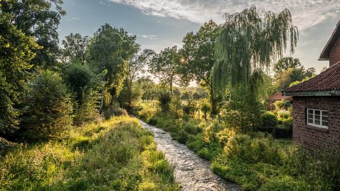
[(176, 181), (181, 183), (182, 191), (241, 191), (236, 184), (221, 179), (210, 170), (210, 163), (197, 156), (187, 146), (172, 140), (170, 133), (141, 120), (140, 124), (153, 132), (158, 150), (175, 165)]

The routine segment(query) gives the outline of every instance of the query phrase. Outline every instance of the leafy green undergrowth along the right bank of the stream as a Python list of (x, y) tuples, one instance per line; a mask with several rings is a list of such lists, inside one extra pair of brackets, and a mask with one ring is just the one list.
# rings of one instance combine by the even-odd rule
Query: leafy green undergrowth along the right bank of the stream
[(262, 132), (243, 134), (218, 121), (139, 113), (144, 121), (171, 132), (173, 139), (210, 160), (216, 174), (245, 191), (340, 190), (339, 151), (312, 154), (298, 149), (291, 139), (274, 139)]

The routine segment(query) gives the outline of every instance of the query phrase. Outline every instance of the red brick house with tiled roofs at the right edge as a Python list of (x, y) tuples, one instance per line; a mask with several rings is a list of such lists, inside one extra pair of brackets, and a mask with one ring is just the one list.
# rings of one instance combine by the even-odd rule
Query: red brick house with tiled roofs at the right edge
[(329, 68), (282, 93), (294, 101), (293, 139), (309, 149), (340, 145), (340, 21), (319, 60)]

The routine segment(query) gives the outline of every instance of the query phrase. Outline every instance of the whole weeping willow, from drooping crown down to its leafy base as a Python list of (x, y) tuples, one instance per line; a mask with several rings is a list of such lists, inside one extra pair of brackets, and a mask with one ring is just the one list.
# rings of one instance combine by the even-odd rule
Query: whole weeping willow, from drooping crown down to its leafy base
[(215, 93), (229, 92), (225, 124), (247, 132), (261, 125), (259, 101), (267, 92), (268, 70), (288, 45), (294, 53), (298, 30), (288, 9), (273, 13), (252, 6), (224, 18), (215, 44), (213, 88)]

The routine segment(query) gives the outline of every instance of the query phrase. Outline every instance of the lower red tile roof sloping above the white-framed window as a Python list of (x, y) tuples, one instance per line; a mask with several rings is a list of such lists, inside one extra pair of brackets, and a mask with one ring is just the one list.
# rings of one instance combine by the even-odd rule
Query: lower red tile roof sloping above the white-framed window
[(305, 82), (288, 87), (282, 92), (323, 91), (340, 89), (340, 62)]

